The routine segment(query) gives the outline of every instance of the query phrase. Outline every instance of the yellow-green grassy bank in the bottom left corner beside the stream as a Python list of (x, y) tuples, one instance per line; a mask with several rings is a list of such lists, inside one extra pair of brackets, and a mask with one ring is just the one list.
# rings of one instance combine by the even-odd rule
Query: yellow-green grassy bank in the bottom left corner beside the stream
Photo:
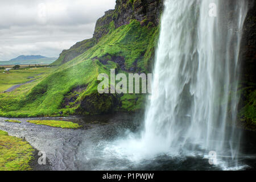
[(28, 142), (0, 130), (0, 171), (31, 170), (34, 151)]

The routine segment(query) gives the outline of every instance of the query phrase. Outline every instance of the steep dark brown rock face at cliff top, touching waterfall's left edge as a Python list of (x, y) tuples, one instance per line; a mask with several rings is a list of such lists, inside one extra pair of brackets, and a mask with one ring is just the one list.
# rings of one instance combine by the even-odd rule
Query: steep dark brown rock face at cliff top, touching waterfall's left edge
[(160, 13), (163, 10), (163, 0), (117, 0), (115, 9), (105, 12), (96, 22), (93, 37), (99, 40), (108, 34), (109, 24), (113, 21), (115, 28), (129, 24), (131, 19), (141, 22), (146, 26), (158, 26)]

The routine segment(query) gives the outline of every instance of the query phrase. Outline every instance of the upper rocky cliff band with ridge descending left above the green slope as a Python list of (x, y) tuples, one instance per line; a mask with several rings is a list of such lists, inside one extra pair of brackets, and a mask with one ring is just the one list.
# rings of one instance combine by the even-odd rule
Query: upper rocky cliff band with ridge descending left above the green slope
[(129, 24), (132, 19), (138, 20), (142, 26), (158, 26), (162, 10), (163, 0), (117, 0), (115, 9), (106, 11), (97, 20), (92, 39), (83, 40), (64, 50), (51, 65), (67, 63), (96, 45), (110, 30)]

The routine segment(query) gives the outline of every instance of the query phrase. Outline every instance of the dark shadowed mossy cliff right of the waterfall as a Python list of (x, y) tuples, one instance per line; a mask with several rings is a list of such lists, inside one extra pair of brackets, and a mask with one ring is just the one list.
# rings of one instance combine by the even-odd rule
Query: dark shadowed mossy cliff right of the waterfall
[(244, 125), (256, 130), (256, 1), (249, 3), (240, 52), (242, 69), (239, 112)]

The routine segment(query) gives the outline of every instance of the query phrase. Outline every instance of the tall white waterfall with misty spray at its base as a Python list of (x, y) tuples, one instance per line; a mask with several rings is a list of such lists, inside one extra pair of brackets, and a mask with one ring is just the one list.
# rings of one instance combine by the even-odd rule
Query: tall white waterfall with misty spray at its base
[[(133, 160), (214, 151), (218, 159), (234, 162), (241, 135), (234, 126), (247, 1), (166, 0), (164, 5), (154, 66), (159, 81), (152, 84), (159, 96), (147, 104), (140, 137), (132, 134), (114, 148)], [(210, 16), (214, 7), (217, 14)]]

